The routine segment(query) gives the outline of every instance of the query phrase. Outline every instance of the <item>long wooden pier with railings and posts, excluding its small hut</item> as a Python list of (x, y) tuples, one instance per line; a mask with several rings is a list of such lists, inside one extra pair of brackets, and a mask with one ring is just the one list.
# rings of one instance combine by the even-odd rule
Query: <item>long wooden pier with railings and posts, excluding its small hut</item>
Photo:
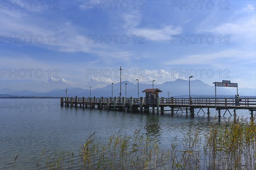
[[(190, 113), (191, 116), (195, 115), (195, 109), (199, 108), (199, 111), (203, 111), (203, 108), (207, 108), (207, 114), (210, 114), (209, 109), (215, 108), (218, 111), (218, 116), (221, 117), (221, 110), (225, 110), (225, 113), (230, 113), (233, 110), (234, 115), (236, 115), (237, 109), (248, 110), (253, 117), (253, 111), (256, 111), (256, 98), (241, 98), (238, 101), (239, 104), (236, 105), (236, 99), (224, 98), (224, 99), (202, 99), (202, 98), (190, 98), (190, 99), (176, 99), (176, 98), (159, 98), (157, 97), (156, 105), (146, 105), (145, 98), (79, 98), (79, 97), (61, 97), (61, 106), (75, 106), (82, 108), (98, 108), (98, 109), (108, 109), (108, 110), (119, 110), (119, 111), (131, 111), (131, 112), (148, 112), (149, 110), (156, 111), (157, 113), (164, 113), (164, 111), (171, 111), (174, 113), (176, 111), (186, 111)], [(164, 108), (168, 107), (169, 110)], [(150, 109), (151, 108), (151, 109)], [(198, 111), (198, 113), (199, 113)], [(197, 113), (197, 114), (198, 114)], [(225, 115), (224, 113), (224, 115)], [(205, 114), (205, 112), (204, 112)], [(223, 116), (224, 116), (223, 115)], [(230, 115), (232, 115), (230, 113)]]

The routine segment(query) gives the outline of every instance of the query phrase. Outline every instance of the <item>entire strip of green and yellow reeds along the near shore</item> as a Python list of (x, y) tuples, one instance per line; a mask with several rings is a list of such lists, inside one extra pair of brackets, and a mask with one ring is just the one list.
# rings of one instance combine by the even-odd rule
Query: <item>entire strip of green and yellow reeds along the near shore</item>
[(46, 157), (43, 150), (38, 169), (255, 170), (255, 122), (237, 119), (228, 125), (214, 125), (206, 136), (190, 131), (181, 141), (176, 137), (168, 150), (140, 131), (133, 136), (116, 134), (106, 141), (92, 134), (78, 156), (55, 151)]

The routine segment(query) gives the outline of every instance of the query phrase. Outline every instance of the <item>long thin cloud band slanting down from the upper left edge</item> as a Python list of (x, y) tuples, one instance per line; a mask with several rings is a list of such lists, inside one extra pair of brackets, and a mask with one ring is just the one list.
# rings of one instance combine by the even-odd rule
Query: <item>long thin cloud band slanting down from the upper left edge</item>
[[(41, 17), (41, 20), (38, 20), (37, 17)], [(96, 54), (101, 58), (111, 57), (129, 60), (129, 57), (131, 57), (130, 51), (113, 48), (111, 46), (113, 44), (108, 45), (107, 43), (95, 43), (94, 40), (87, 40), (88, 35), (86, 32), (90, 32), (89, 28), (81, 28), (69, 20), (58, 20), (54, 22), (47, 20), (45, 16), (41, 16), (40, 14), (34, 15), (25, 10), (22, 12), (18, 10), (4, 10), (1, 11), (0, 24), (1, 35), (12, 35), (12, 37), (15, 35), (25, 35), (25, 37), (27, 37), (27, 35), (33, 35), (31, 45), (61, 52)], [(35, 37), (38, 35), (41, 35), (44, 39), (42, 44), (35, 42)], [(49, 35), (51, 36), (50, 43)], [(53, 37), (55, 35), (57, 35), (57, 37)], [(54, 44), (54, 40), (58, 43)], [(26, 42), (29, 42), (29, 37)], [(114, 45), (114, 47), (116, 47), (116, 45)]]

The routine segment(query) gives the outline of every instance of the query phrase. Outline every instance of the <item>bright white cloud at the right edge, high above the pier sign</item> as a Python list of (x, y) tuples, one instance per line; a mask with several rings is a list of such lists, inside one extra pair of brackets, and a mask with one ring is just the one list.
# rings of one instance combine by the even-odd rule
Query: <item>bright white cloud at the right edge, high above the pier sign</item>
[[(250, 13), (241, 14), (241, 11), (250, 11)], [(214, 20), (212, 23), (210, 21), (213, 20), (212, 18), (215, 15), (209, 16), (200, 24), (197, 32), (210, 32), (216, 36), (221, 35), (222, 37), (228, 35), (230, 36), (230, 43), (251, 45), (255, 43), (256, 37), (255, 9), (253, 6), (248, 5), (241, 11), (227, 15), (227, 17), (225, 16), (225, 20)]]

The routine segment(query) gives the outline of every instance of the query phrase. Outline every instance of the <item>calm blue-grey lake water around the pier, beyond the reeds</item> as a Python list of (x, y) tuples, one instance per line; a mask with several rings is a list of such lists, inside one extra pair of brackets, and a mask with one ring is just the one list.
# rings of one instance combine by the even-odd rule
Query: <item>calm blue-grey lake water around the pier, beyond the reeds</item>
[[(176, 136), (182, 139), (189, 130), (200, 130), (204, 135), (213, 124), (223, 125), (237, 118), (250, 120), (247, 110), (237, 110), (236, 117), (226, 113), (218, 119), (214, 109), (210, 109), (209, 116), (202, 111), (197, 115), (197, 110), (191, 117), (181, 111), (172, 115), (65, 108), (60, 106), (60, 99), (0, 99), (0, 103), (0, 169), (5, 170), (37, 169), (43, 149), (47, 154), (54, 150), (74, 151), (78, 157), (87, 136), (94, 132), (108, 139), (116, 133), (133, 135), (141, 130), (157, 139), (161, 148), (169, 149)], [(41, 164), (45, 165), (45, 161)]]

